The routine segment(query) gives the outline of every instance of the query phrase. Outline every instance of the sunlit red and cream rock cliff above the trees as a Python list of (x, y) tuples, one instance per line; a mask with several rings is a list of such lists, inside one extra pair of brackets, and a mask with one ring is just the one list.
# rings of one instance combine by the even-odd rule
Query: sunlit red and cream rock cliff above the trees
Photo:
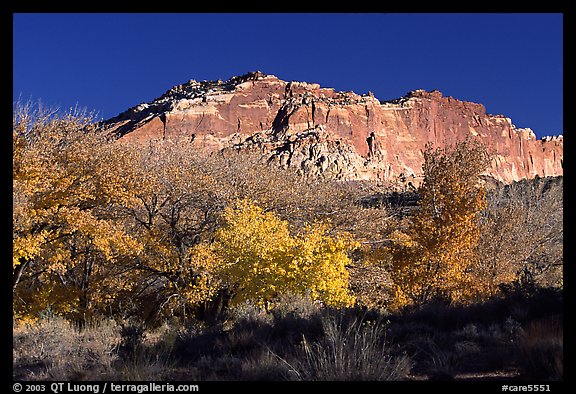
[(311, 175), (345, 180), (421, 176), (426, 143), (473, 136), (495, 154), (488, 174), (510, 183), (563, 174), (563, 138), (536, 139), (481, 104), (416, 90), (380, 102), (259, 72), (189, 81), (105, 122), (121, 140), (177, 139), (207, 150), (253, 150)]

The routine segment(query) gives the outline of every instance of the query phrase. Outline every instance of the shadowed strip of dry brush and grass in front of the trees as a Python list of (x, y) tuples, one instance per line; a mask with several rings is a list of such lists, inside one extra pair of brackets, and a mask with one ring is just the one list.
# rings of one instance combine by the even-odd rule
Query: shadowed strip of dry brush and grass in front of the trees
[[(561, 380), (562, 293), (385, 314), (300, 297), (212, 324), (58, 317), (14, 328), (18, 380)], [(57, 356), (56, 356), (57, 355)]]

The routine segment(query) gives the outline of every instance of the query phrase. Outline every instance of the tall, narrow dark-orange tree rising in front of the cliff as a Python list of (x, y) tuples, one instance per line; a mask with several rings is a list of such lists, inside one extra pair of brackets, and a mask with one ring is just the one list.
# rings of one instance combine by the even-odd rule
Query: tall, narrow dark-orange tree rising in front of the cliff
[(486, 206), (479, 175), (488, 164), (480, 142), (426, 147), (418, 209), (406, 231), (392, 234), (395, 306), (436, 297), (463, 302), (483, 291), (474, 267), (479, 261), (479, 218)]

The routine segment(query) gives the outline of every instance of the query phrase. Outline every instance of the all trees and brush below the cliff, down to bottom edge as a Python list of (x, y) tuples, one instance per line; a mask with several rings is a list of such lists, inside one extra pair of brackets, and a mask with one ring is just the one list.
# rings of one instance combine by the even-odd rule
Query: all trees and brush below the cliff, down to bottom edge
[(30, 106), (13, 152), (19, 379), (562, 378), (562, 179), (473, 140), (416, 192)]

